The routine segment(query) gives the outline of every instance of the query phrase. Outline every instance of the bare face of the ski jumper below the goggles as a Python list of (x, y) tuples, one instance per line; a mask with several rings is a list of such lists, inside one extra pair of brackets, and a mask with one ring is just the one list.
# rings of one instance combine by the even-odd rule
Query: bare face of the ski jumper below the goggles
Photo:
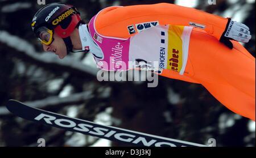
[(65, 46), (65, 42), (59, 36), (54, 33), (53, 35), (54, 41), (51, 45), (43, 44), (43, 49), (46, 52), (53, 52), (59, 56), (60, 59), (63, 59), (67, 55), (67, 49)]

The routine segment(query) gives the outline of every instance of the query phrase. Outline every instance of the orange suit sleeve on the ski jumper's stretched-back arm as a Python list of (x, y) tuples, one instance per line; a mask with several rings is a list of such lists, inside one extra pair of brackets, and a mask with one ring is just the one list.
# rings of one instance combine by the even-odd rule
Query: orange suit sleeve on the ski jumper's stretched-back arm
[(158, 3), (155, 5), (105, 8), (97, 15), (95, 27), (98, 33), (103, 36), (129, 38), (135, 33), (130, 35), (128, 26), (156, 21), (160, 25), (199, 24), (203, 26), (201, 29), (204, 29), (205, 32), (218, 40), (220, 40), (228, 23), (226, 18), (196, 10), (195, 8), (177, 6), (170, 3)]

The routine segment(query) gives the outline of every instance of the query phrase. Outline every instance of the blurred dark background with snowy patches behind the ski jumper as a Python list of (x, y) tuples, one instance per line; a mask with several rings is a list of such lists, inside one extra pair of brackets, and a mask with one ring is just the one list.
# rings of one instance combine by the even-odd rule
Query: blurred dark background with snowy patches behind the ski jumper
[[(46, 0), (46, 3), (57, 2)], [(104, 7), (159, 2), (194, 7), (249, 26), (245, 44), (255, 57), (255, 0), (59, 1), (78, 8), (89, 21)], [(200, 84), (159, 76), (156, 88), (147, 82), (98, 82), (90, 54), (64, 60), (43, 53), (30, 23), (42, 6), (37, 1), (0, 0), (0, 146), (125, 146), (79, 133), (38, 125), (10, 114), (4, 107), (16, 99), (36, 107), (143, 133), (217, 146), (255, 146), (255, 122), (230, 112)], [(196, 16), (196, 15), (195, 15)]]

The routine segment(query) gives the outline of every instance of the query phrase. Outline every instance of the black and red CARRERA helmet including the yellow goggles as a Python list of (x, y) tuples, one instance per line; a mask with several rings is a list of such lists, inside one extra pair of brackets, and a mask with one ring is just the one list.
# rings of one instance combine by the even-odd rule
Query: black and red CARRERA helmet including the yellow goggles
[(69, 36), (80, 23), (80, 13), (75, 7), (65, 3), (51, 3), (36, 12), (31, 27), (39, 40), (46, 45), (52, 43), (53, 33), (57, 33), (63, 38), (69, 53), (73, 49)]

